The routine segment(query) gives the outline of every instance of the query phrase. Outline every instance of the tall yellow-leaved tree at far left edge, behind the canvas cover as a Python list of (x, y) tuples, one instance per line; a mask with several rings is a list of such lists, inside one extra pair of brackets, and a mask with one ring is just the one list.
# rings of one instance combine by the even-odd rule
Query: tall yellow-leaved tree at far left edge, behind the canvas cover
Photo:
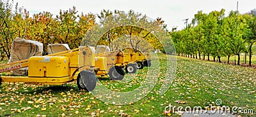
[[(28, 12), (19, 8), (18, 3), (13, 1), (0, 1), (0, 50), (3, 59), (3, 52), (10, 59), (12, 41), (19, 37), (24, 38), (26, 31), (26, 20)], [(15, 8), (13, 8), (15, 7)], [(15, 9), (15, 11), (12, 11)]]

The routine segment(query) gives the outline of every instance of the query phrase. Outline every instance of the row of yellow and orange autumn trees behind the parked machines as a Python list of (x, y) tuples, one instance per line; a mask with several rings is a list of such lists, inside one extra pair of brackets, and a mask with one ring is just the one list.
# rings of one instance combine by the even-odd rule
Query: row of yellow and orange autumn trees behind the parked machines
[[(29, 12), (24, 8), (19, 8), (18, 3), (15, 4), (13, 1), (0, 1), (0, 6), (0, 53), (2, 60), (4, 57), (10, 58), (12, 41), (17, 37), (43, 43), (43, 55), (47, 54), (48, 44), (67, 43), (72, 49), (79, 47), (83, 39), (84, 44), (91, 46), (97, 41), (103, 40), (99, 44), (109, 45), (112, 50), (124, 48), (120, 46), (143, 49), (142, 47), (148, 45), (149, 42), (152, 46), (151, 49), (160, 48), (164, 51), (160, 41), (157, 41), (156, 36), (150, 33), (152, 31), (166, 31), (164, 21), (161, 18), (148, 21), (145, 15), (134, 13), (132, 10), (128, 13), (117, 10), (115, 12), (102, 10), (99, 15), (92, 13), (78, 15), (76, 7), (73, 7), (69, 10), (60, 10), (56, 17), (46, 11), (29, 17)], [(99, 23), (96, 23), (96, 18), (100, 19)], [(99, 32), (102, 28), (108, 29), (108, 27), (122, 24), (136, 24), (136, 26), (143, 26), (148, 30), (126, 26), (105, 31), (103, 35)], [(88, 32), (95, 34), (95, 38), (86, 39), (84, 34)], [(148, 49), (144, 48), (144, 50)]]

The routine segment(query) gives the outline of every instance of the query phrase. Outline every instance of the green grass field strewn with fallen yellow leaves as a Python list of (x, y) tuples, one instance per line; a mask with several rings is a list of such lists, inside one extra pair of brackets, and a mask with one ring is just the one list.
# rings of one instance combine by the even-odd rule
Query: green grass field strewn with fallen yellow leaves
[[(159, 55), (161, 75), (164, 77), (166, 59)], [(146, 97), (123, 106), (106, 104), (90, 92), (79, 91), (76, 82), (64, 86), (3, 83), (0, 86), (0, 116), (178, 116), (164, 113), (172, 106), (244, 107), (256, 111), (256, 69), (216, 62), (177, 57), (177, 72), (169, 90), (159, 95), (161, 80)], [(116, 83), (109, 78), (99, 81), (111, 90), (127, 92), (140, 86), (147, 67), (140, 69), (134, 80)], [(241, 114), (241, 113), (239, 113)], [(255, 114), (242, 114), (255, 116)]]

